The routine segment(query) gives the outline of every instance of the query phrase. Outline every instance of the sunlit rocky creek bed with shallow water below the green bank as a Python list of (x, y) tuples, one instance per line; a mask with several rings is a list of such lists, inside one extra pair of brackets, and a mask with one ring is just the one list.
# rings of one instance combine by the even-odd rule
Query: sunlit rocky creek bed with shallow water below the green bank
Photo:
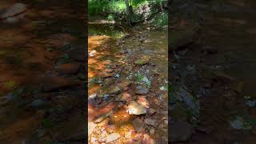
[(167, 143), (167, 33), (89, 25), (89, 143)]

